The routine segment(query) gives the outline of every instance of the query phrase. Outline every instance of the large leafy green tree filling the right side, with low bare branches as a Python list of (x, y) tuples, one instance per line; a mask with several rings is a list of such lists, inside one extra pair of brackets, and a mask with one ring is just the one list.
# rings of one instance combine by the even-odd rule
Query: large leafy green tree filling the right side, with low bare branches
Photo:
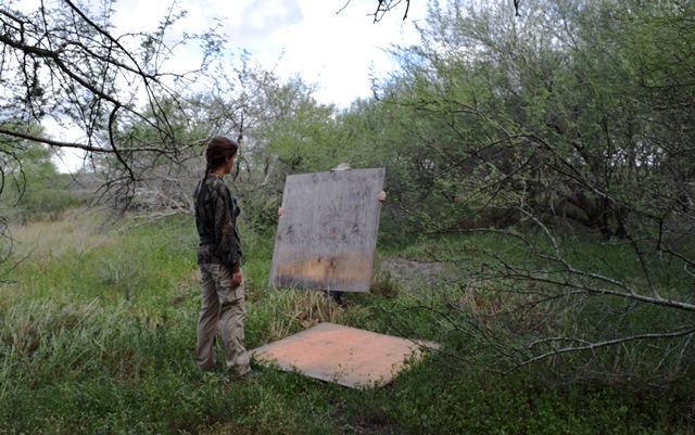
[[(691, 370), (695, 10), (529, 10), (432, 9), (422, 43), (394, 50), (402, 68), (379, 89), (418, 138), (425, 164), (407, 191), (432, 187), (412, 228), (498, 238), (454, 248), (469, 278), (422, 307), (494, 344), (503, 371), (580, 351), (587, 370)], [(504, 290), (484, 311), (475, 300), (490, 289)], [(628, 351), (644, 364), (618, 367)]]

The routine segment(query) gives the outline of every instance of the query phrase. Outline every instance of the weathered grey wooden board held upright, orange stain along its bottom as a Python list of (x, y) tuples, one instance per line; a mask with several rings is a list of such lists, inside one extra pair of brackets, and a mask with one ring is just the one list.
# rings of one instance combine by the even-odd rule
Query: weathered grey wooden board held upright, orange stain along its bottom
[(386, 169), (288, 176), (270, 285), (367, 292)]

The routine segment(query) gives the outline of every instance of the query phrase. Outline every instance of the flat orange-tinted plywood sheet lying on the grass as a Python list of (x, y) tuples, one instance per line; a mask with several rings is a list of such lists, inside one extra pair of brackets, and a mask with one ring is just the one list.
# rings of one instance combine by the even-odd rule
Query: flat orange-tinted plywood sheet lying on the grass
[[(432, 343), (424, 343), (431, 347)], [(386, 385), (421, 353), (413, 341), (334, 323), (319, 323), (251, 351), (261, 364), (298, 371), (353, 388)]]

